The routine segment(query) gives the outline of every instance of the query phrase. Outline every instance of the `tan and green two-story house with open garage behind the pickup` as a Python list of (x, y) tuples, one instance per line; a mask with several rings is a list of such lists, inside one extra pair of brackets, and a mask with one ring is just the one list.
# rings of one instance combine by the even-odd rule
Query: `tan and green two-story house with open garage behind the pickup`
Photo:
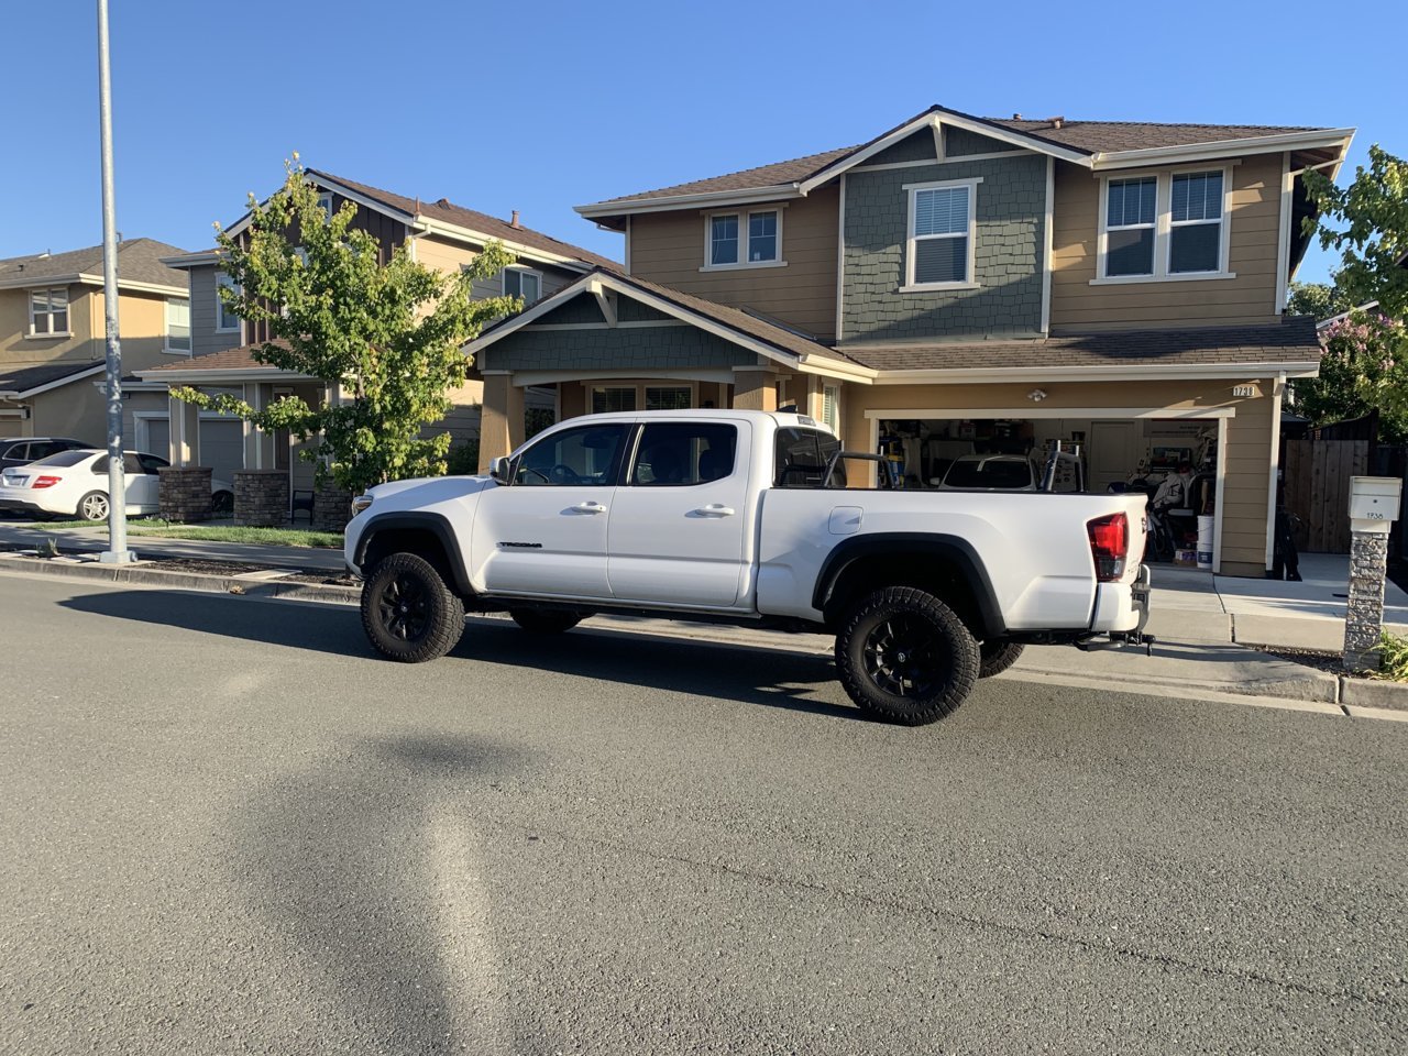
[(1181, 460), (1215, 567), (1271, 562), (1301, 173), (1353, 130), (979, 118), (931, 107), (859, 146), (580, 206), (625, 235), (469, 348), (484, 465), (524, 393), (563, 417), (794, 404), (911, 487), (955, 458), (1080, 445), (1090, 487)]

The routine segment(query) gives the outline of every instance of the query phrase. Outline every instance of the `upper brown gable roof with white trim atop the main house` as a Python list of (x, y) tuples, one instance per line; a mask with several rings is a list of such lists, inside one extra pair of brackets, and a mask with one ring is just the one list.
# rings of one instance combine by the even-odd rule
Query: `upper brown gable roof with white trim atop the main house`
[(835, 179), (866, 158), (925, 128), (948, 124), (987, 135), (1014, 146), (1048, 153), (1086, 168), (1119, 168), (1180, 153), (1190, 158), (1215, 156), (1221, 151), (1286, 149), (1295, 146), (1331, 151), (1326, 159), (1343, 158), (1352, 128), (1307, 128), (1297, 125), (1209, 125), (1157, 124), (1148, 121), (1029, 121), (1021, 117), (976, 117), (943, 106), (932, 106), (856, 146), (760, 165), (703, 180), (676, 183), (577, 206), (577, 213), (598, 222), (620, 225), (628, 213), (669, 208), (700, 200), (756, 200), (801, 197)]

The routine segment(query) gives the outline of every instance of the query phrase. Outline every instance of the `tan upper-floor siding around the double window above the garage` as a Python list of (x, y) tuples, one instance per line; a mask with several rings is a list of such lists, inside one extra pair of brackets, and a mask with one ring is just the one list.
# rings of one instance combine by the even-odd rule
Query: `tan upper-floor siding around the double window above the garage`
[[(1208, 162), (1207, 168), (1224, 163)], [(1100, 177), (1088, 169), (1056, 162), (1052, 329), (1274, 322), (1281, 163), (1280, 153), (1266, 153), (1249, 155), (1232, 166), (1228, 269), (1235, 279), (1091, 286), (1100, 245)]]

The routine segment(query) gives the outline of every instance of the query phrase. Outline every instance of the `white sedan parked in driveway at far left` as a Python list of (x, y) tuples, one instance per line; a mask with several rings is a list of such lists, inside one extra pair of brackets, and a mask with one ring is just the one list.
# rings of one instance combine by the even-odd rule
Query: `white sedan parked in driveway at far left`
[[(161, 510), (156, 470), (170, 462), (137, 451), (122, 452), (122, 476), (127, 489), (127, 514), (155, 514)], [(222, 480), (210, 482), (214, 513), (234, 508), (234, 489)], [(27, 466), (0, 472), (0, 510), (39, 517), (80, 517), (106, 521), (107, 452), (97, 448), (61, 451)]]

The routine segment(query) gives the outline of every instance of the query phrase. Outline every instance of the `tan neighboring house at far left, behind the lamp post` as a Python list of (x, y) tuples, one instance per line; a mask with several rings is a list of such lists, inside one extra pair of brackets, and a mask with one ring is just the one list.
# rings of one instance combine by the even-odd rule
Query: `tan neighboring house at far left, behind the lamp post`
[[(162, 263), (180, 252), (149, 238), (117, 246), (117, 321), (127, 370), (190, 355), (186, 276)], [(0, 436), (106, 445), (106, 337), (103, 246), (0, 260)]]

